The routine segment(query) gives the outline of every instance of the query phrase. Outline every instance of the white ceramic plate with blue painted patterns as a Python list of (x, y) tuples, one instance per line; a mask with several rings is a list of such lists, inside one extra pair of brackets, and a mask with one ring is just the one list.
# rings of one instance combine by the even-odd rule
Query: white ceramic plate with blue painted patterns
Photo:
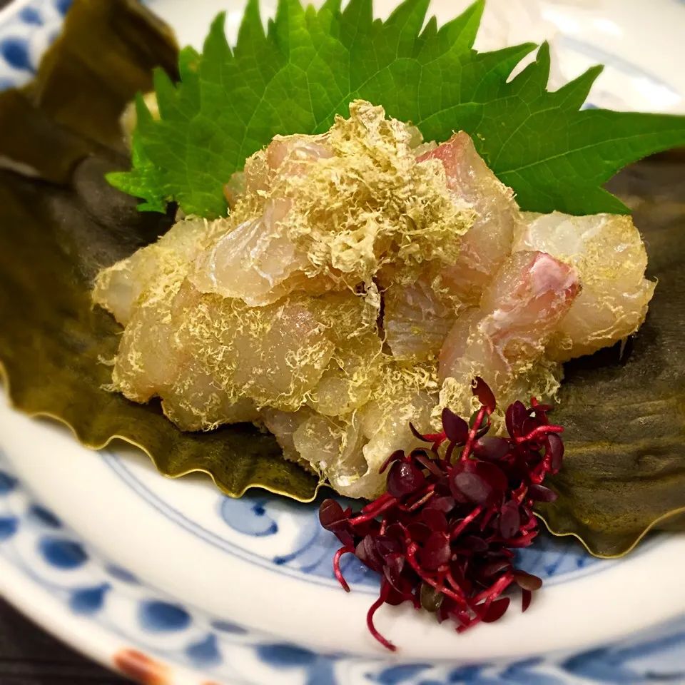
[[(0, 12), (0, 87), (31, 78), (68, 4), (15, 0)], [(196, 47), (217, 11), (228, 9), (230, 38), (242, 12), (237, 0), (151, 4)], [(376, 5), (387, 14), (394, 3)], [(463, 6), (433, 9), (445, 20)], [(684, 112), (684, 29), (675, 0), (489, 0), (477, 46), (549, 39), (552, 87), (607, 64), (587, 106)], [(390, 655), (365, 628), (377, 577), (345, 559), (352, 594), (342, 592), (316, 509), (258, 492), (228, 499), (199, 476), (166, 480), (141, 453), (88, 452), (0, 402), (0, 592), (144, 683), (685, 682), (684, 536), (649, 537), (617, 561), (542, 536), (519, 555), (545, 584), (526, 614), (457, 635), (384, 607), (377, 627), (400, 647)]]

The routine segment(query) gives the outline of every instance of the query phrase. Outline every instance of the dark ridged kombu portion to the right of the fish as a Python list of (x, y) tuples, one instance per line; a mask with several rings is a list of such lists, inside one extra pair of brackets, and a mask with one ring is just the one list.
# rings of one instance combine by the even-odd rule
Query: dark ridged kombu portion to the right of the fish
[(624, 349), (564, 366), (560, 497), (539, 507), (552, 531), (607, 557), (649, 527), (685, 530), (685, 159), (643, 161), (611, 189), (633, 211), (659, 286)]

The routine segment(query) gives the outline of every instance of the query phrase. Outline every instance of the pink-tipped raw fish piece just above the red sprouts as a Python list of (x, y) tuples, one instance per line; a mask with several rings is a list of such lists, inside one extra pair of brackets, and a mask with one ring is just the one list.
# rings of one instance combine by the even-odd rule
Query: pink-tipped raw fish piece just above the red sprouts
[(480, 308), (457, 319), (440, 352), (440, 377), (467, 389), (479, 375), (506, 405), (512, 383), (532, 374), (579, 291), (569, 265), (542, 252), (514, 253), (484, 291)]

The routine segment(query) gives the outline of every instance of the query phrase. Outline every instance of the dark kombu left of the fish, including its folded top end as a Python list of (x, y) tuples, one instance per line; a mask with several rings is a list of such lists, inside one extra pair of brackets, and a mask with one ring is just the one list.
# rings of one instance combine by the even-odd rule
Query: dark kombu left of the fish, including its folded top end
[[(104, 178), (128, 163), (118, 118), (136, 91), (151, 87), (156, 65), (173, 74), (175, 43), (137, 2), (74, 0), (36, 81), (0, 93), (0, 125), (16, 123), (16, 135), (0, 138), (0, 158), (10, 167), (0, 171), (6, 390), (15, 407), (58, 418), (88, 447), (114, 438), (141, 447), (165, 475), (207, 472), (233, 497), (260, 485), (312, 499), (317, 479), (285, 462), (273, 437), (254, 427), (183, 433), (158, 404), (103, 390), (121, 327), (93, 308), (93, 279), (173, 220), (138, 213), (136, 201)], [(62, 97), (58, 104), (39, 92)]]

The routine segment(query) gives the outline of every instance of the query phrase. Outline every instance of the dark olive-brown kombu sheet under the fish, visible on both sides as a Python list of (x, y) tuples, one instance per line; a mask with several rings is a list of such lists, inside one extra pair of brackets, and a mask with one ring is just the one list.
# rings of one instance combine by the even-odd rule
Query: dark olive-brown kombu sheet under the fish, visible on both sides
[[(75, 0), (66, 37), (51, 53), (49, 64), (59, 68), (52, 75), (39, 70), (39, 81), (59, 91), (60, 75), (77, 73), (68, 64), (76, 51), (65, 44), (87, 31), (97, 36), (91, 45), (98, 50), (86, 54), (86, 64), (91, 61), (100, 79), (76, 78), (68, 88), (62, 83), (71, 99), (65, 95), (59, 109), (44, 108), (34, 86), (0, 93), (0, 123), (24, 126), (0, 138), (0, 158), (9, 158), (14, 169), (0, 171), (0, 362), (11, 400), (30, 414), (58, 417), (90, 447), (123, 437), (148, 452), (165, 475), (202, 470), (233, 496), (258, 485), (311, 499), (318, 481), (283, 460), (273, 437), (247, 425), (183, 433), (158, 405), (137, 405), (102, 389), (110, 380), (103, 362), (116, 354), (121, 328), (91, 307), (93, 276), (155, 240), (172, 220), (171, 210), (138, 213), (133, 198), (108, 186), (104, 174), (127, 163), (112, 131), (133, 92), (150, 86), (151, 63), (170, 78), (176, 64), (175, 55), (167, 59), (173, 44), (165, 42), (166, 30), (136, 3), (107, 6), (109, 17), (99, 14), (103, 5)], [(111, 26), (118, 27), (116, 39)], [(126, 36), (156, 44), (158, 52), (141, 63), (140, 55), (124, 49), (126, 59), (107, 61)], [(101, 59), (117, 64), (117, 71), (106, 71)], [(182, 71), (193, 68), (191, 53), (184, 61)], [(113, 95), (111, 81), (129, 68), (138, 76), (129, 91)], [(86, 96), (109, 105), (83, 109)], [(104, 113), (93, 121), (93, 111)], [(659, 288), (644, 328), (622, 355), (615, 348), (567, 365), (555, 417), (567, 426), (564, 470), (555, 481), (562, 497), (541, 513), (553, 532), (575, 534), (602, 556), (628, 551), (650, 527), (685, 529), (679, 515), (685, 507), (684, 179), (679, 158), (644, 162), (615, 179), (612, 191), (634, 211)]]

